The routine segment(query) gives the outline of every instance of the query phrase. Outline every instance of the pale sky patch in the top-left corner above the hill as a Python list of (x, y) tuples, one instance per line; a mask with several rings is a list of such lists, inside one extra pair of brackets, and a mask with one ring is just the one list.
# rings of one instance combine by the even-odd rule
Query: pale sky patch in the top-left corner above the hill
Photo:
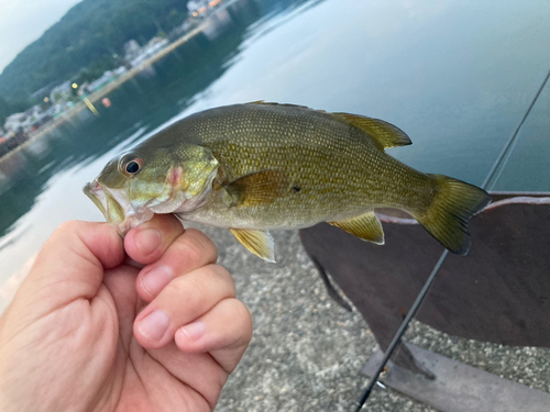
[(81, 0), (0, 0), (0, 71)]

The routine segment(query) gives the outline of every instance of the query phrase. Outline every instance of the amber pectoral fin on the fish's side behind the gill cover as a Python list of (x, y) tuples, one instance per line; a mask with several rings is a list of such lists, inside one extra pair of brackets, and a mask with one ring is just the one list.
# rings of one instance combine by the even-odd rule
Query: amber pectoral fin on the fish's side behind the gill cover
[(287, 187), (283, 170), (265, 169), (230, 181), (226, 190), (233, 199), (232, 205), (253, 207), (273, 202)]

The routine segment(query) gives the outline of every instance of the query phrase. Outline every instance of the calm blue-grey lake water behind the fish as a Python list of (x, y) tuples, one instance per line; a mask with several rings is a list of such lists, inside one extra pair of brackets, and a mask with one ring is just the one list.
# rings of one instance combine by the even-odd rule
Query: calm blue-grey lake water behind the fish
[[(89, 111), (0, 163), (0, 310), (9, 279), (70, 219), (105, 163), (211, 107), (266, 100), (365, 114), (406, 131), (392, 149), (480, 185), (550, 69), (550, 2), (240, 0)], [(550, 191), (550, 86), (494, 190)], [(1, 301), (3, 299), (3, 302)]]

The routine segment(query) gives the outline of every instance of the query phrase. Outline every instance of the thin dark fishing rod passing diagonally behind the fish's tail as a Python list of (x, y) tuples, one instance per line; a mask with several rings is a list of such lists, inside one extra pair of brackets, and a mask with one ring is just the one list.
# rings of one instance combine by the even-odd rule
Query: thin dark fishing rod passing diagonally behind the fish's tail
[[(548, 71), (544, 80), (540, 85), (540, 88), (537, 91), (537, 94), (535, 94), (535, 98), (532, 99), (531, 104), (529, 105), (529, 109), (527, 109), (524, 118), (521, 119), (521, 121), (519, 122), (518, 126), (516, 127), (516, 131), (508, 138), (508, 141), (505, 143), (503, 149), (498, 154), (498, 157), (496, 158), (495, 163), (491, 167), (491, 169), (490, 169), (490, 171), (487, 174), (487, 177), (485, 178), (485, 180), (483, 181), (483, 183), (481, 186), (483, 189), (485, 189), (488, 186), (488, 183), (492, 181), (492, 179), (493, 179), (496, 170), (498, 169), (498, 166), (501, 165), (501, 163), (503, 162), (503, 159), (505, 157), (506, 157), (506, 162), (507, 162), (507, 159), (509, 157), (509, 153), (512, 153), (510, 149), (514, 148), (514, 146), (515, 146), (516, 137), (517, 137), (517, 135), (519, 133), (519, 130), (521, 129), (521, 126), (524, 125), (527, 116), (531, 112), (532, 107), (537, 102), (537, 100), (538, 100), (540, 93), (542, 92), (542, 89), (544, 88), (544, 86), (546, 86), (546, 83), (547, 83), (547, 81), (548, 81), (549, 78), (550, 78), (550, 70)], [(493, 185), (498, 179), (498, 177), (501, 176), (501, 172), (504, 169), (504, 165), (506, 164), (506, 162), (503, 164), (503, 167), (501, 168), (501, 171), (496, 176), (496, 179), (493, 181)], [(393, 355), (394, 350), (396, 349), (397, 345), (399, 345), (403, 335), (407, 331), (407, 327), (408, 327), (410, 321), (413, 320), (413, 318), (415, 316), (416, 312), (420, 308), (420, 304), (422, 304), (422, 301), (426, 298), (426, 296), (428, 294), (428, 291), (429, 291), (431, 285), (433, 283), (433, 280), (436, 280), (436, 275), (438, 274), (439, 269), (443, 265), (443, 261), (444, 261), (444, 259), (447, 258), (448, 255), (449, 255), (449, 250), (444, 249), (443, 253), (441, 254), (441, 256), (439, 257), (438, 263), (436, 264), (436, 266), (431, 270), (431, 274), (428, 277), (428, 280), (426, 280), (426, 283), (424, 285), (422, 290), (420, 290), (420, 293), (418, 293), (418, 297), (416, 298), (415, 303), (413, 303), (413, 307), (410, 308), (409, 312), (407, 313), (407, 316), (403, 321), (403, 323), (399, 326), (399, 330), (397, 331), (397, 333), (395, 334), (392, 343), (389, 344), (389, 346), (387, 347), (386, 352), (384, 353), (384, 357), (382, 358), (381, 364), (376, 368), (376, 371), (373, 374), (371, 380), (369, 381), (369, 385), (366, 386), (365, 390), (363, 391), (363, 394), (361, 396), (361, 399), (359, 400), (358, 407), (354, 410), (354, 412), (361, 411), (361, 409), (363, 408), (364, 403), (366, 402), (366, 400), (371, 396), (371, 392), (372, 392), (374, 386), (378, 381), (380, 375), (382, 374), (382, 371), (386, 367), (386, 364), (389, 360), (389, 358), (392, 357), (392, 355)]]

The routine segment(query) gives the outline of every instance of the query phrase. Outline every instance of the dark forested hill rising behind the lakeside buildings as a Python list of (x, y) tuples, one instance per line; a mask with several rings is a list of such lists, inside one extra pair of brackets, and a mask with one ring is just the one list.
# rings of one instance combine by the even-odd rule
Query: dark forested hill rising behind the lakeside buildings
[(0, 75), (0, 97), (26, 100), (52, 83), (68, 80), (90, 63), (123, 54), (127, 41), (143, 42), (170, 31), (187, 15), (183, 0), (84, 0)]

